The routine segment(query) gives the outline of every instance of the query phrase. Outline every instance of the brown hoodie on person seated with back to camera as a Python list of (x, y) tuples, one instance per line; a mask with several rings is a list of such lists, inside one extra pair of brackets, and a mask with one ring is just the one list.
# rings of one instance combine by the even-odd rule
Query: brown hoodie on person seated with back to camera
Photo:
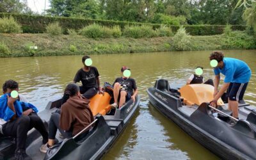
[(89, 100), (81, 95), (70, 97), (61, 106), (61, 129), (68, 131), (72, 129), (72, 135), (76, 135), (94, 120), (92, 111), (88, 106)]

